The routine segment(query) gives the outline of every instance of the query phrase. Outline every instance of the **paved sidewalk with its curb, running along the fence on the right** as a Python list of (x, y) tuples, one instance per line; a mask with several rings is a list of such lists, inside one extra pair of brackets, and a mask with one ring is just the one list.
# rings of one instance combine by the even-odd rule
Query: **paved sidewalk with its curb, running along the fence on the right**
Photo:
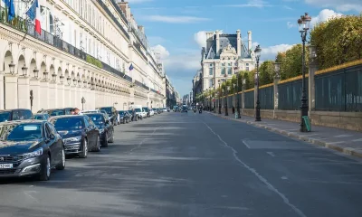
[(311, 126), (311, 132), (301, 133), (300, 124), (295, 122), (262, 118), (261, 122), (255, 122), (253, 117), (242, 116), (236, 119), (234, 114), (224, 116), (213, 112), (207, 112), (220, 118), (231, 119), (250, 124), (255, 127), (261, 127), (270, 131), (280, 133), (287, 137), (297, 138), (310, 142), (318, 146), (325, 146), (349, 156), (358, 156), (362, 158), (362, 132), (345, 130), (333, 127)]

